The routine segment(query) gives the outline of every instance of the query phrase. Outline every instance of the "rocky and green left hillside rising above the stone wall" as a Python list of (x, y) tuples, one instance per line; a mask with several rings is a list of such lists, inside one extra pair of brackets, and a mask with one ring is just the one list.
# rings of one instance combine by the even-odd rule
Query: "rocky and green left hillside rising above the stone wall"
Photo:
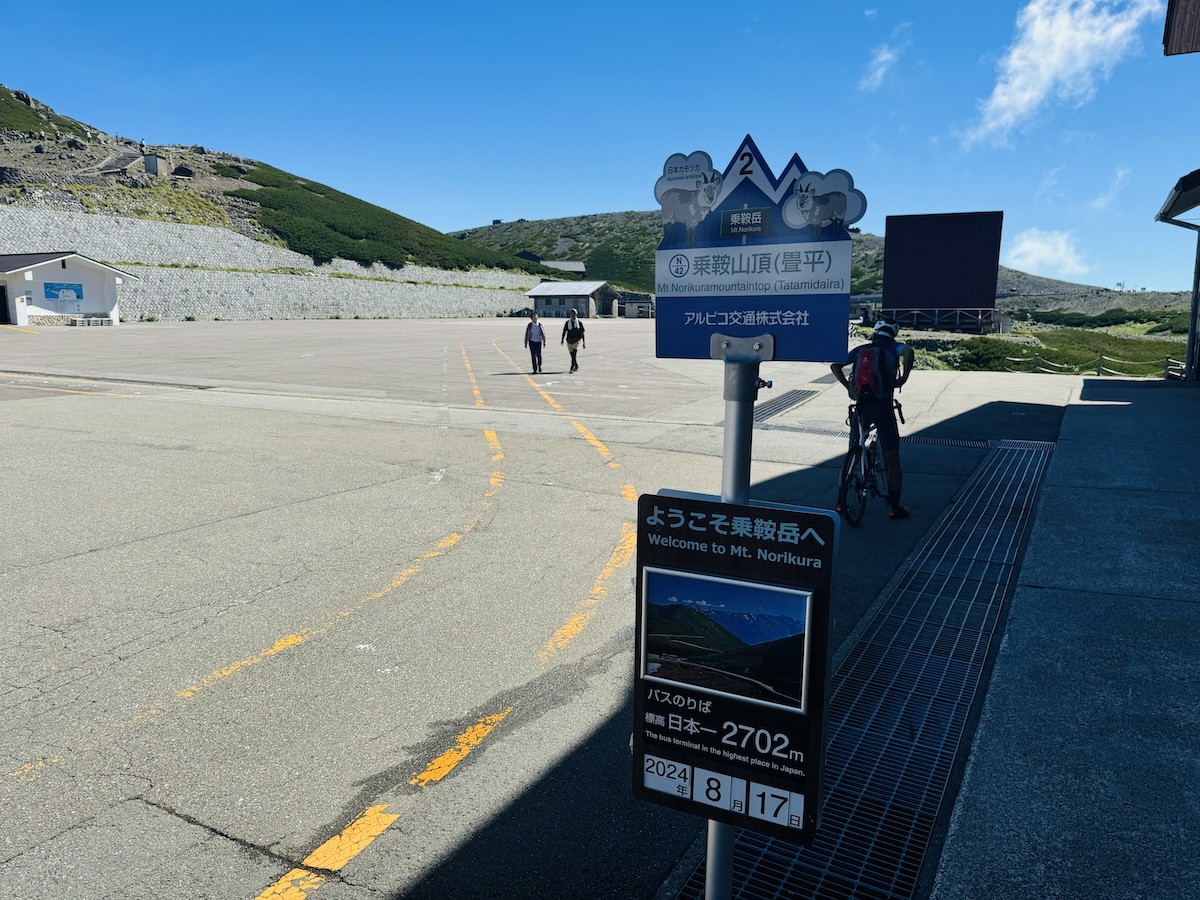
[[(0, 203), (232, 228), (318, 262), (563, 274), (349, 194), (203, 146), (112, 137), (0, 85)], [(148, 172), (148, 155), (158, 174)]]

